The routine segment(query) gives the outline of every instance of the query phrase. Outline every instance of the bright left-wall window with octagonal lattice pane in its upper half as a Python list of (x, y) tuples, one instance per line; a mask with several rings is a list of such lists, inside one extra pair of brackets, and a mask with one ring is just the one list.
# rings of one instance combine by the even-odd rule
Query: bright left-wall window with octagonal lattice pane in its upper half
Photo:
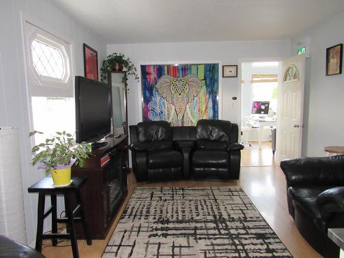
[(56, 131), (75, 131), (72, 45), (61, 36), (25, 22), (26, 63), (35, 144)]

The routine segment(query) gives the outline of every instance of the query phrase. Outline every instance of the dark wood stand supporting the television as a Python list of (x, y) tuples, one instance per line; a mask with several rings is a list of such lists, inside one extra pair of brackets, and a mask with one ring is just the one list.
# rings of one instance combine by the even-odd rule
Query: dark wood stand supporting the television
[[(72, 168), (72, 175), (87, 176), (80, 192), (92, 239), (105, 239), (127, 196), (128, 137), (107, 137), (106, 141), (106, 146), (92, 151), (83, 169)], [(85, 238), (81, 225), (76, 224), (76, 235)]]

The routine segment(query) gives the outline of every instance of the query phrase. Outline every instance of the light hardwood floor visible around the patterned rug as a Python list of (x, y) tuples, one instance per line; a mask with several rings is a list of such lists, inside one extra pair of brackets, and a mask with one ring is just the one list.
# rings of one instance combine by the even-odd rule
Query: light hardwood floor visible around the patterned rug
[[(247, 148), (248, 149), (248, 148)], [(286, 203), (286, 180), (279, 166), (273, 166), (272, 158), (264, 158), (268, 156), (268, 152), (264, 154), (265, 149), (260, 151), (253, 147), (248, 151), (244, 150), (241, 155), (242, 167), (240, 180), (233, 180), (230, 182), (208, 182), (208, 181), (176, 181), (176, 182), (159, 182), (159, 183), (137, 183), (133, 173), (129, 174), (129, 194), (125, 203), (122, 205), (114, 224), (111, 226), (107, 238), (104, 240), (93, 240), (92, 246), (87, 246), (85, 240), (78, 240), (79, 255), (81, 258), (96, 258), (101, 257), (103, 249), (111, 237), (111, 233), (114, 231), (116, 224), (118, 223), (120, 214), (125, 208), (125, 204), (129, 200), (129, 197), (135, 187), (141, 186), (241, 186), (246, 192), (250, 200), (257, 207), (261, 215), (263, 215), (266, 222), (270, 224), (271, 228), (275, 230), (275, 233), (279, 236), (283, 244), (288, 248), (290, 253), (295, 258), (318, 258), (321, 257), (315, 252), (308, 243), (299, 234), (296, 226), (292, 222), (292, 218), (288, 213)], [(271, 149), (266, 148), (270, 151)], [(257, 154), (250, 153), (250, 151), (257, 152)], [(272, 154), (270, 154), (272, 156)], [(251, 158), (250, 158), (251, 157)], [(272, 159), (272, 160), (271, 160)], [(258, 160), (258, 161), (257, 161)], [(259, 160), (261, 162), (259, 162)], [(272, 166), (267, 166), (266, 160), (270, 160)], [(251, 165), (251, 166), (249, 166)], [(253, 166), (252, 166), (253, 165)], [(50, 242), (47, 241), (47, 244)], [(68, 242), (63, 242), (61, 245), (66, 245)], [(72, 257), (72, 248), (70, 246), (65, 247), (45, 247), (43, 248), (43, 255), (47, 258), (56, 257)]]

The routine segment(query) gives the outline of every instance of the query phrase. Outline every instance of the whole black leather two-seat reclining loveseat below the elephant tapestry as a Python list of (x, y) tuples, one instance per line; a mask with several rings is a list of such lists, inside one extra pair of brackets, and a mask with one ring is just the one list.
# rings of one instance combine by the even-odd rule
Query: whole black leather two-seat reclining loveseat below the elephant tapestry
[(182, 179), (239, 179), (238, 126), (199, 120), (195, 127), (166, 121), (129, 126), (133, 173), (138, 182)]

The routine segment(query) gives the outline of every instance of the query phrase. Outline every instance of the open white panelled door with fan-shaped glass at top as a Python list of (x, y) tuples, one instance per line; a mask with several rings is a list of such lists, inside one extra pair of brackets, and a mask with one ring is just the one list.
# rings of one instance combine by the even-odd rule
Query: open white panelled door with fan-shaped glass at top
[(277, 162), (301, 156), (305, 55), (281, 62), (277, 109)]

